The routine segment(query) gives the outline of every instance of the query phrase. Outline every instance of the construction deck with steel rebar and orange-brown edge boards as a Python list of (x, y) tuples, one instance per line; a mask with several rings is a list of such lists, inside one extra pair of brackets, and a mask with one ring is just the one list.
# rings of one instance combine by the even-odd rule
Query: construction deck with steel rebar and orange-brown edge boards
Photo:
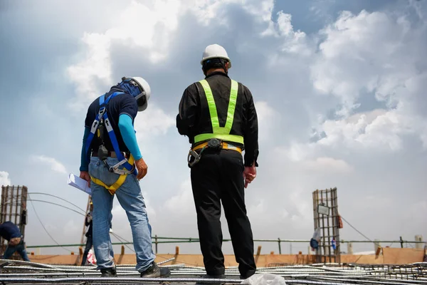
[[(240, 279), (233, 255), (225, 256), (226, 278), (205, 279), (201, 255), (158, 254), (159, 266), (171, 269), (163, 279), (141, 278), (135, 270), (135, 254), (117, 254), (117, 277), (102, 278), (95, 265), (79, 266), (79, 255), (37, 256), (31, 262), (0, 259), (0, 284), (426, 284), (427, 262), (423, 249), (384, 248), (379, 255), (341, 255), (340, 263), (312, 263), (315, 256), (303, 254), (259, 254), (257, 271), (276, 282)], [(278, 283), (280, 280), (282, 283)], [(251, 282), (252, 281), (252, 282)], [(283, 283), (283, 281), (285, 283)]]

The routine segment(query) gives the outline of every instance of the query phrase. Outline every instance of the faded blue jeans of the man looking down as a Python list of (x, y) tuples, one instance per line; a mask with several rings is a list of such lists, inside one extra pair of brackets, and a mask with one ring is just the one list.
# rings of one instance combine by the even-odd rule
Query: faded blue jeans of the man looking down
[[(117, 164), (117, 158), (107, 157), (108, 165)], [(107, 170), (102, 160), (90, 157), (89, 174), (105, 185), (112, 185), (120, 175)], [(114, 196), (105, 187), (90, 182), (93, 201), (93, 248), (97, 269), (114, 268), (114, 252), (110, 239), (110, 221)], [(125, 182), (115, 192), (120, 205), (127, 214), (132, 229), (133, 245), (137, 257), (136, 269), (145, 271), (154, 261), (152, 228), (148, 221), (144, 198), (135, 175), (127, 175)]]

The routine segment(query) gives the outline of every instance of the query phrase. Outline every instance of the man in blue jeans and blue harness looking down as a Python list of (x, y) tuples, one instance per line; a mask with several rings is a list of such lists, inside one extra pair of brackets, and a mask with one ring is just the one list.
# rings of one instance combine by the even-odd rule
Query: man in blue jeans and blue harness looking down
[(167, 277), (169, 269), (154, 262), (152, 232), (139, 180), (147, 165), (133, 128), (137, 112), (147, 108), (150, 88), (143, 78), (122, 78), (117, 86), (90, 104), (85, 119), (80, 177), (92, 189), (93, 248), (102, 276), (116, 276), (110, 239), (114, 195), (125, 209), (132, 229), (141, 277)]

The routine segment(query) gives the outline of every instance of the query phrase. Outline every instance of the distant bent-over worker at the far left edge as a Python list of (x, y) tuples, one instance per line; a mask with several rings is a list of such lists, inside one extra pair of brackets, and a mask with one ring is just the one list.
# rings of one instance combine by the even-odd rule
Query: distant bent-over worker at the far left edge
[(23, 245), (23, 236), (16, 224), (13, 222), (4, 222), (0, 224), (0, 236), (8, 241), (7, 247), (4, 250), (3, 259), (10, 259), (15, 252), (18, 252), (23, 260), (31, 261), (28, 259), (26, 249)]

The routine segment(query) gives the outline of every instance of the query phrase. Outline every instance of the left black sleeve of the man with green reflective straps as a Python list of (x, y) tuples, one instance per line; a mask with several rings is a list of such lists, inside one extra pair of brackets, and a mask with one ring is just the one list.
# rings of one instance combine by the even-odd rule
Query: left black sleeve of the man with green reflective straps
[(179, 134), (188, 136), (190, 140), (194, 137), (192, 128), (196, 125), (199, 108), (199, 95), (194, 83), (184, 90), (179, 102), (179, 113), (176, 115), (176, 128)]

